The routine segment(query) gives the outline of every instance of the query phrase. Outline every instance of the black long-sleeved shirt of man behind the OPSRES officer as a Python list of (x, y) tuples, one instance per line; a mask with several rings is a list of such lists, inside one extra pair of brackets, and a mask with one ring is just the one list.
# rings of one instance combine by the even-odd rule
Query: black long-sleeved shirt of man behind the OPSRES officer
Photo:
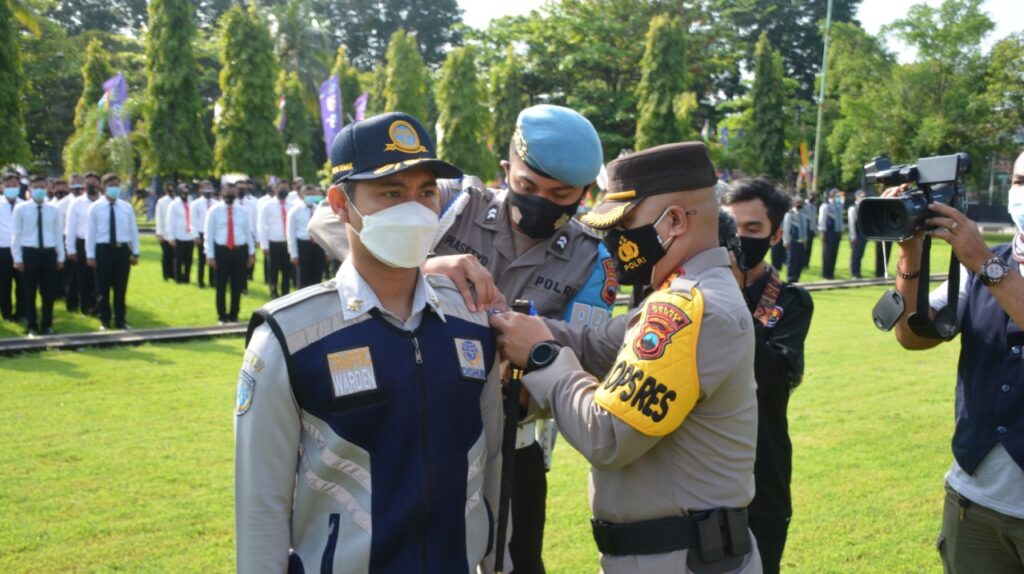
[[(754, 313), (772, 269), (746, 286), (746, 307)], [(754, 320), (754, 379), (758, 384), (758, 450), (754, 465), (757, 486), (751, 516), (793, 515), (790, 483), (793, 476), (793, 444), (790, 442), (786, 408), (790, 394), (804, 377), (804, 341), (811, 326), (814, 302), (804, 288), (781, 283), (778, 299), (768, 310), (767, 323)]]

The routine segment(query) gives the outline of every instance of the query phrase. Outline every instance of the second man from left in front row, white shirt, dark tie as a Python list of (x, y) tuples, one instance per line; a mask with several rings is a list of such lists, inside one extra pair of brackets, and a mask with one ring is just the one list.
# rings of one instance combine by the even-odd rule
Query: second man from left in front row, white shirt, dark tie
[(102, 179), (105, 200), (89, 207), (85, 254), (96, 271), (96, 304), (100, 329), (111, 328), (111, 290), (114, 291), (114, 325), (131, 328), (125, 321), (128, 274), (138, 265), (138, 225), (131, 204), (119, 200), (121, 178), (109, 173)]

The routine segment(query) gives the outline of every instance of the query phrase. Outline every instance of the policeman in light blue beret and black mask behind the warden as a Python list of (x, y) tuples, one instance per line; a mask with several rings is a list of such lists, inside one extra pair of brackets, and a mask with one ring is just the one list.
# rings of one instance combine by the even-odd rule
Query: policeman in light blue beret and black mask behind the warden
[[(597, 131), (579, 113), (523, 109), (502, 162), (507, 189), (487, 189), (474, 177), (442, 182), (441, 231), (423, 269), (452, 277), (470, 308), (526, 299), (544, 317), (603, 322), (618, 291), (614, 261), (573, 219), (601, 161)], [(309, 229), (327, 249), (340, 245), (344, 232), (326, 208)], [(544, 572), (545, 473), (555, 434), (550, 421), (532, 415), (519, 425), (509, 546), (517, 574)]]

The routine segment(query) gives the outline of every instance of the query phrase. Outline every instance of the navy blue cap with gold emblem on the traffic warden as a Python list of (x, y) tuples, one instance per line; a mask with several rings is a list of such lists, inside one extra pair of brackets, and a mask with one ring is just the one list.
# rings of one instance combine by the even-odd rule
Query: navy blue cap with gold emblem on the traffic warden
[(437, 159), (430, 134), (409, 114), (392, 112), (345, 126), (331, 144), (331, 181), (378, 179), (414, 168), (440, 178), (462, 171)]

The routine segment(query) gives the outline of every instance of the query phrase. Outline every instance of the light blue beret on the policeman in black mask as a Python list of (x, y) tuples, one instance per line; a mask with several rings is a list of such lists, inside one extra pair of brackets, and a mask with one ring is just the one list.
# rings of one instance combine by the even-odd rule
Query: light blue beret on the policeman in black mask
[(589, 120), (560, 105), (519, 113), (512, 136), (519, 158), (541, 175), (583, 187), (601, 171), (601, 140)]

